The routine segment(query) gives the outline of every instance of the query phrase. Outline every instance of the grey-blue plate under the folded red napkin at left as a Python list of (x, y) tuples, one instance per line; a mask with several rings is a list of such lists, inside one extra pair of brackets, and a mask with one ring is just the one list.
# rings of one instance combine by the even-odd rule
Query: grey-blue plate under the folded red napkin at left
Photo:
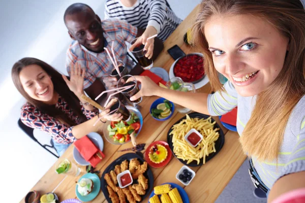
[[(104, 142), (102, 137), (100, 136), (99, 133), (97, 132), (90, 132), (88, 135), (88, 138), (97, 146), (101, 151), (104, 149)], [(89, 165), (90, 163), (87, 162), (79, 153), (79, 151), (74, 147), (73, 149), (73, 157), (74, 160), (79, 164), (79, 165)]]

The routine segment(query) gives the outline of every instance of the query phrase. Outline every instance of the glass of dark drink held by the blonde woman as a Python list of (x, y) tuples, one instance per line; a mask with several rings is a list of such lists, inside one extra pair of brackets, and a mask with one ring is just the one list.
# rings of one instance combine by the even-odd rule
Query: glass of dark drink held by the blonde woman
[[(128, 79), (132, 78), (131, 81), (127, 82)], [(132, 75), (126, 75), (121, 77), (118, 82), (116, 87), (127, 87), (129, 85), (134, 85), (130, 88), (128, 88), (125, 91), (122, 91), (121, 93), (133, 104), (133, 105), (137, 105), (142, 101), (142, 97), (138, 98), (137, 100), (131, 101), (130, 97), (132, 97), (133, 95), (135, 95), (136, 93), (138, 93), (140, 91), (139, 86), (138, 86), (138, 82), (135, 79), (135, 77), (133, 77)]]

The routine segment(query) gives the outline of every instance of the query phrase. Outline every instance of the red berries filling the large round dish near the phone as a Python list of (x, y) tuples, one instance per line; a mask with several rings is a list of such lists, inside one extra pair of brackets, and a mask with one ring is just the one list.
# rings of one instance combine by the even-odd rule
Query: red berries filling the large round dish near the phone
[(198, 54), (182, 56), (174, 65), (174, 76), (196, 84), (204, 78), (203, 58)]

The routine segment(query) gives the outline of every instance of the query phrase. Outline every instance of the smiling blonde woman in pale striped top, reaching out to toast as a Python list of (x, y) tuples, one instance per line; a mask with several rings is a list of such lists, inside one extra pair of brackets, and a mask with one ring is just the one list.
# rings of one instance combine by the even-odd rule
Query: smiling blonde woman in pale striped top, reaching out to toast
[[(211, 116), (238, 105), (255, 194), (270, 202), (305, 188), (304, 19), (299, 0), (204, 0), (192, 32), (215, 93), (173, 91), (137, 76), (141, 90), (130, 100), (157, 95)], [(223, 86), (218, 73), (229, 80)]]

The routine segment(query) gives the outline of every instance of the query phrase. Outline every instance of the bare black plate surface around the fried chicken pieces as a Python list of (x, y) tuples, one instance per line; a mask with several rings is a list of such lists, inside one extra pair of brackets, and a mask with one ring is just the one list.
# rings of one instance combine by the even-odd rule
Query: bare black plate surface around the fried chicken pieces
[[(117, 159), (115, 159), (112, 163), (110, 163), (107, 166), (107, 168), (103, 172), (102, 178), (101, 178), (101, 190), (103, 191), (104, 196), (108, 202), (112, 202), (112, 201), (109, 197), (109, 193), (107, 190), (107, 182), (104, 179), (105, 174), (109, 173), (111, 170), (114, 170), (115, 165), (121, 164), (121, 162), (123, 162), (124, 160), (129, 161), (133, 158), (138, 158), (138, 160), (140, 161), (141, 164), (143, 164), (143, 162), (144, 162), (144, 159), (142, 157), (140, 157), (139, 155), (137, 155), (135, 153), (127, 153), (127, 154), (123, 154), (120, 157), (118, 157)], [(152, 191), (154, 189), (154, 175), (153, 175), (153, 172), (151, 172), (149, 166), (147, 166), (147, 170), (143, 175), (145, 176), (145, 178), (148, 179), (148, 189), (146, 190), (144, 195), (140, 195), (140, 196), (142, 199), (145, 199), (146, 196), (148, 196), (148, 194), (150, 193), (150, 191)], [(133, 184), (135, 184), (135, 183), (138, 183), (138, 180), (133, 180)]]

